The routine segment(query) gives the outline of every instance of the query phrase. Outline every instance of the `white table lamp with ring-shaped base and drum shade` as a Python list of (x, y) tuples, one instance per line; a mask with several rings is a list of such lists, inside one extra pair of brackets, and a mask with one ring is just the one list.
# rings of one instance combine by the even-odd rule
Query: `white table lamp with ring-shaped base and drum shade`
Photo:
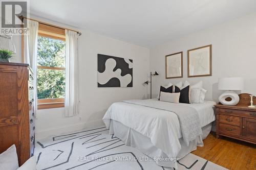
[[(239, 96), (236, 92), (232, 90), (243, 90), (244, 81), (241, 77), (230, 77), (230, 78), (220, 78), (218, 83), (219, 90), (227, 90), (219, 96), (219, 101), (223, 105), (234, 106), (239, 102)], [(226, 101), (227, 98), (231, 98), (231, 101)]]

